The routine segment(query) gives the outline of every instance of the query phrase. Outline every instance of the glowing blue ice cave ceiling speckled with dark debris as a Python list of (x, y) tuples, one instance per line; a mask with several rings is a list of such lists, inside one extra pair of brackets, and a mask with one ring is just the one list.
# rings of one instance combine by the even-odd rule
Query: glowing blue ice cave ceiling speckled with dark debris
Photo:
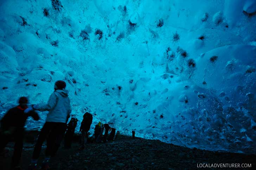
[(255, 14), (255, 0), (1, 0), (1, 115), (61, 79), (80, 121), (255, 153)]

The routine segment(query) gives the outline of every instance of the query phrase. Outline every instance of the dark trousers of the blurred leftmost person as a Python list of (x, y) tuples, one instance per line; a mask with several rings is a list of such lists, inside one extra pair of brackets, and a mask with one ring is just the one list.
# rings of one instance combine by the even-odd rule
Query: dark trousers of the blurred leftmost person
[(13, 135), (4, 135), (0, 136), (0, 151), (4, 150), (6, 145), (11, 141), (11, 138), (14, 137), (14, 151), (12, 156), (12, 164), (11, 167), (18, 166), (20, 163), (22, 148), (23, 148), (23, 136), (24, 129), (19, 129), (14, 132)]

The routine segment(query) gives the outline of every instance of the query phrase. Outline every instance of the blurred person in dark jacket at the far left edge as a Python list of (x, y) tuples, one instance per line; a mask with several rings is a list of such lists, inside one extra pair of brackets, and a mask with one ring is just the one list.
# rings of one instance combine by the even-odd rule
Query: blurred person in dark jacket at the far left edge
[(27, 106), (27, 97), (20, 97), (19, 106), (11, 108), (1, 120), (0, 151), (3, 151), (7, 143), (14, 137), (15, 145), (12, 156), (11, 169), (21, 169), (19, 162), (23, 148), (24, 126), (28, 116), (39, 120), (38, 114)]

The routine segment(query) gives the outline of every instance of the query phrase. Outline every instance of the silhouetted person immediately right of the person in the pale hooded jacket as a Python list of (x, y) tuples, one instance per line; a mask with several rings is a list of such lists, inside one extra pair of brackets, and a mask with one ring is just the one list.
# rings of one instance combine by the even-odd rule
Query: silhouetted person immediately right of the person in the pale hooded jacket
[(71, 120), (68, 123), (67, 131), (65, 134), (65, 140), (64, 140), (64, 147), (66, 149), (71, 148), (71, 143), (73, 140), (73, 135), (75, 133), (76, 125), (77, 125), (77, 118), (75, 115), (71, 116)]

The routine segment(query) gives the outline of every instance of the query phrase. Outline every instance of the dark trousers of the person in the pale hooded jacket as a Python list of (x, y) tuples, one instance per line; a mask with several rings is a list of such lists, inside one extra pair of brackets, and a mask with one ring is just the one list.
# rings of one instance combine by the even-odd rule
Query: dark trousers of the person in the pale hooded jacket
[[(47, 138), (47, 147), (45, 150), (45, 156), (55, 156), (62, 138), (66, 131), (66, 123), (60, 122), (45, 122), (43, 128), (41, 129), (37, 143), (33, 152), (33, 159), (38, 159), (42, 145)], [(48, 136), (48, 137), (47, 137)]]

